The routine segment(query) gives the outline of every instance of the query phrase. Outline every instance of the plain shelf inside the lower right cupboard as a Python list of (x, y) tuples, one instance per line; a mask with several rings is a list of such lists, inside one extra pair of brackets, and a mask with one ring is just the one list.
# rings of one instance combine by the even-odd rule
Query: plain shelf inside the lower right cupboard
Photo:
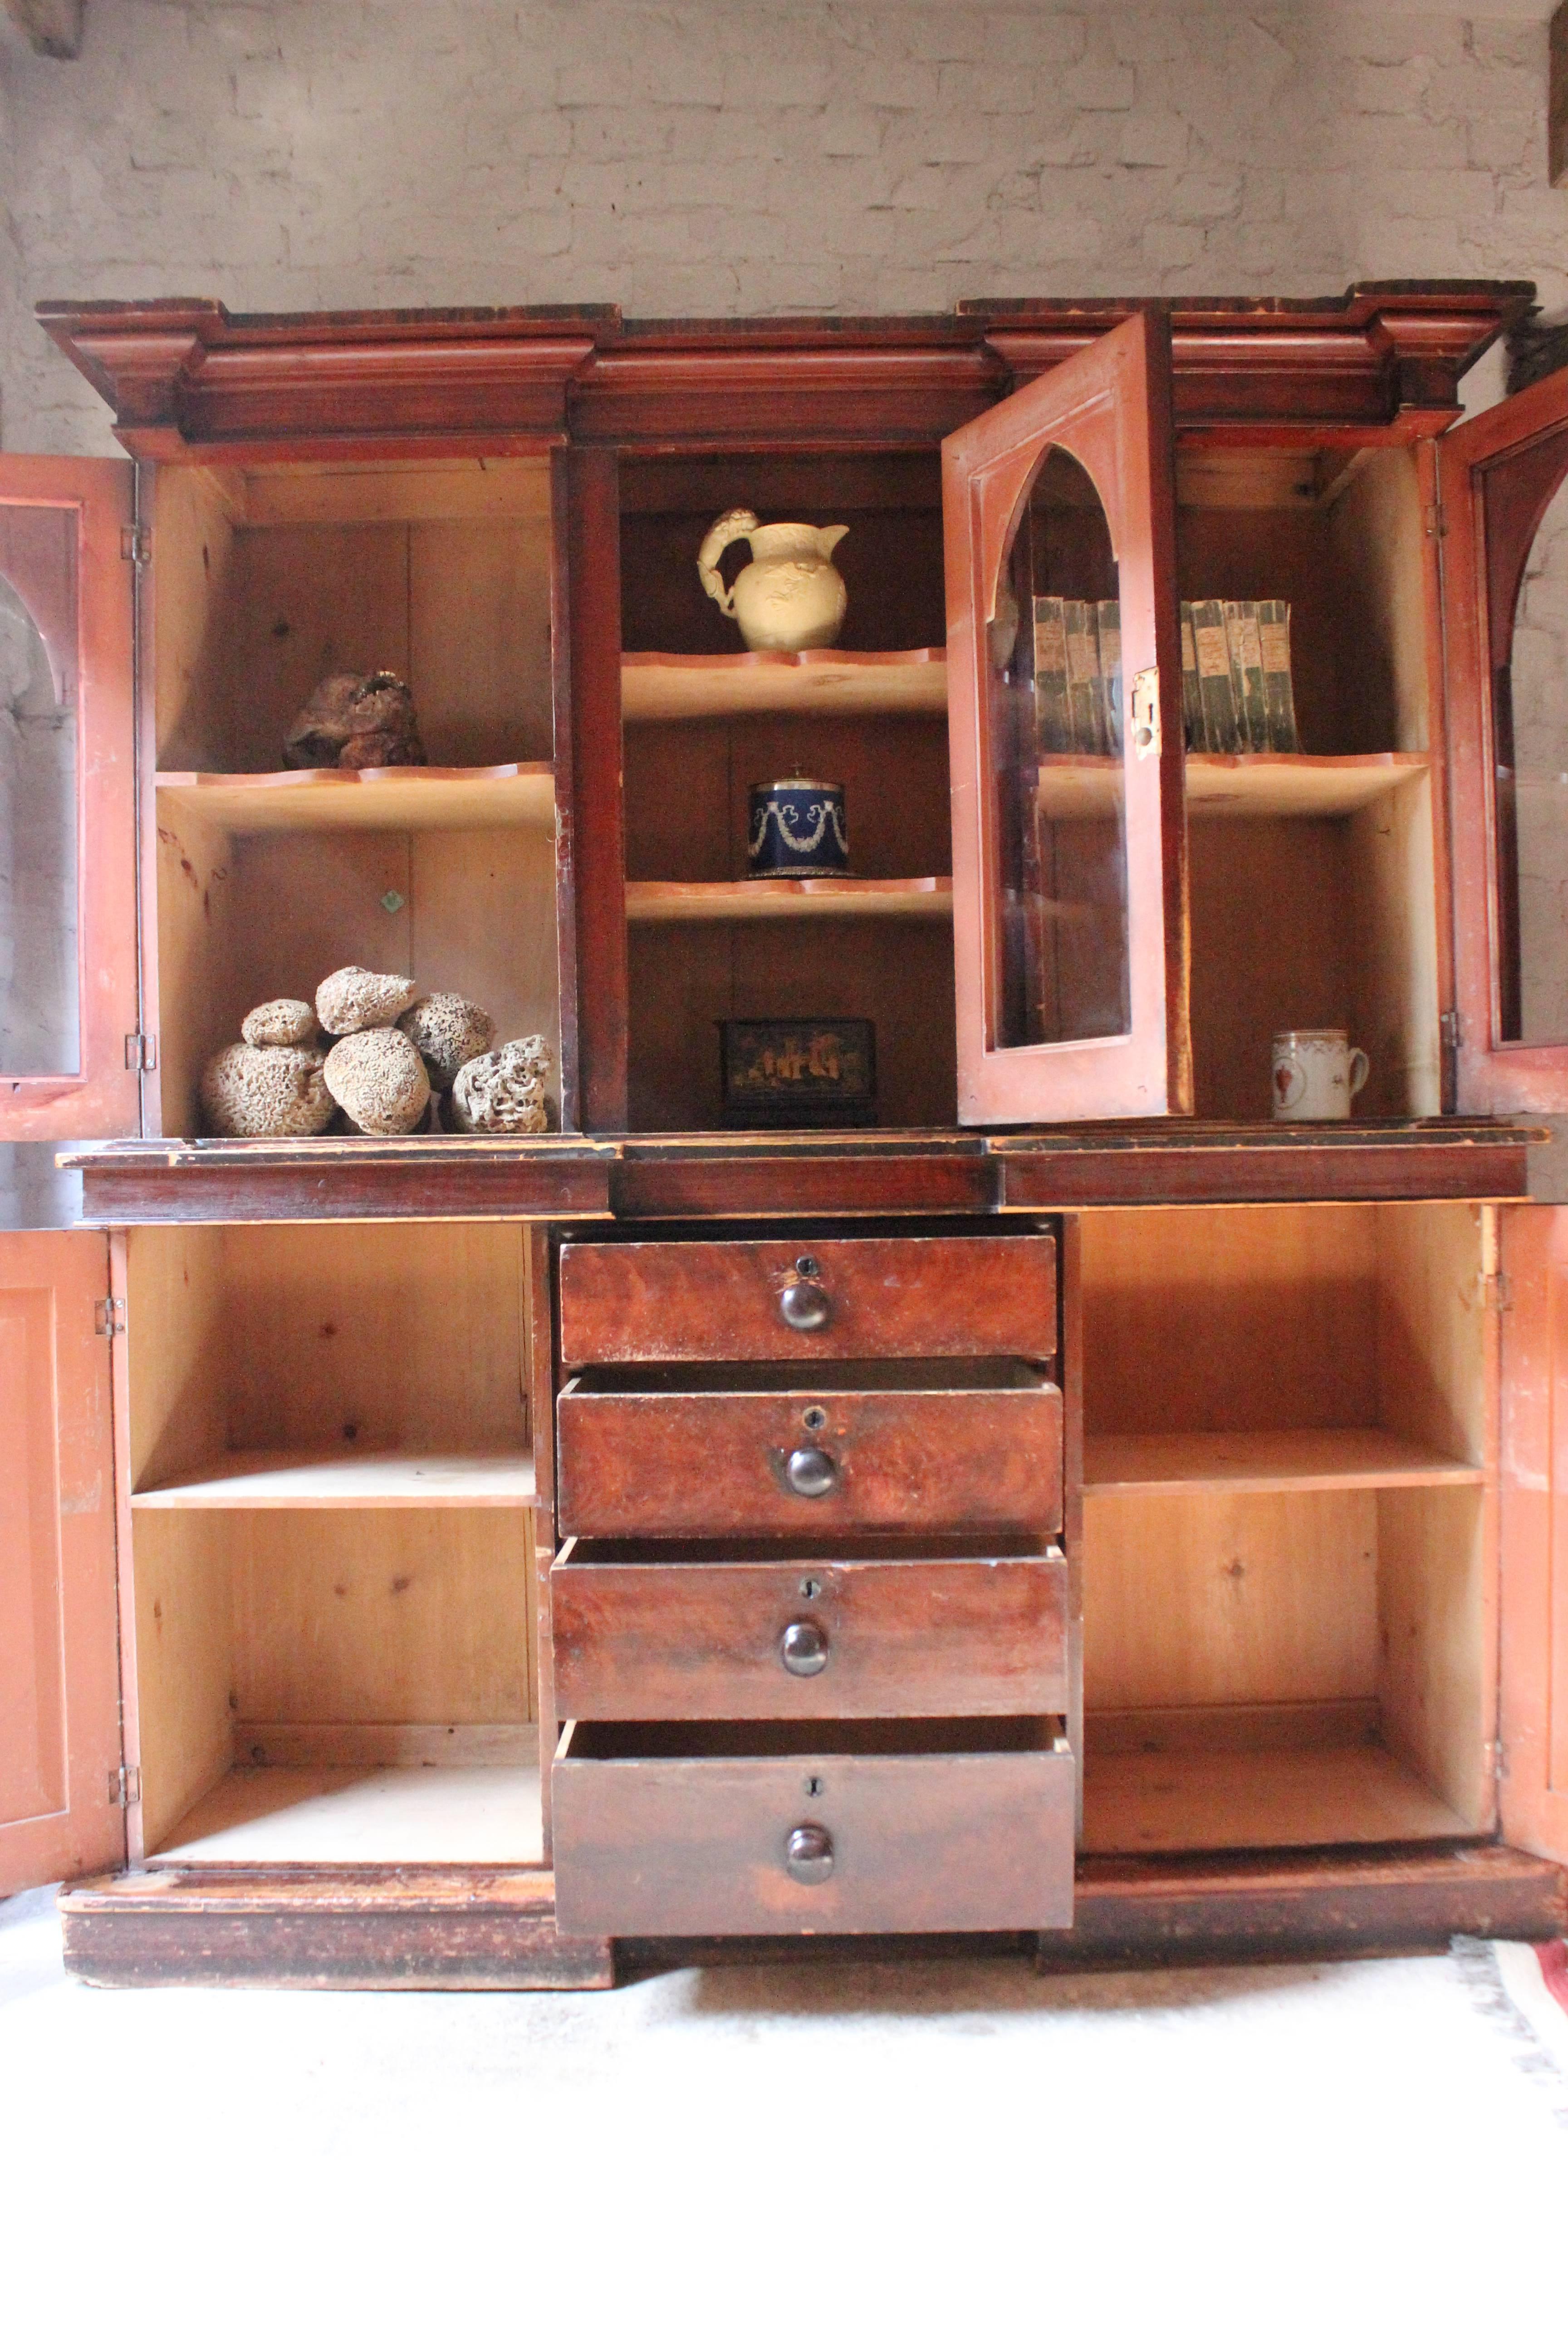
[(1321, 1494), (1479, 1486), (1483, 1470), (1392, 1430), (1180, 1430), (1084, 1437), (1084, 1494)]

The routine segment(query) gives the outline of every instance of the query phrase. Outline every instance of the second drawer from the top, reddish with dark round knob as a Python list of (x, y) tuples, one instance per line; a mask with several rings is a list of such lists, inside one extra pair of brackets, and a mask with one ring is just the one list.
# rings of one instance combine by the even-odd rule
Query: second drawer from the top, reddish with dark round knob
[[(1063, 1524), (1063, 1395), (1027, 1364), (858, 1367), (773, 1388), (691, 1367), (682, 1388), (578, 1374), (557, 1397), (562, 1536), (790, 1536)], [(1025, 1548), (1025, 1545), (1020, 1545)]]

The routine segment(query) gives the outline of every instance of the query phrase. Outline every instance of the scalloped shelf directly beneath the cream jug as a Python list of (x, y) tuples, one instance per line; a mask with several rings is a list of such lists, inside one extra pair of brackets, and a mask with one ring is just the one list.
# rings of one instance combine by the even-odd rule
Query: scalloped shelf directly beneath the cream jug
[(844, 654), (623, 654), (623, 720), (719, 720), (759, 710), (820, 717), (919, 715), (947, 708), (947, 649)]

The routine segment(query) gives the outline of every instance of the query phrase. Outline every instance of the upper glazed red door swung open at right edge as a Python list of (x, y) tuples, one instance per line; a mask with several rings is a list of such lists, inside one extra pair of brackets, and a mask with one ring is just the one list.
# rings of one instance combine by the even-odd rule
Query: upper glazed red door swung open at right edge
[(1568, 369), (1436, 461), (1458, 1110), (1568, 1110)]

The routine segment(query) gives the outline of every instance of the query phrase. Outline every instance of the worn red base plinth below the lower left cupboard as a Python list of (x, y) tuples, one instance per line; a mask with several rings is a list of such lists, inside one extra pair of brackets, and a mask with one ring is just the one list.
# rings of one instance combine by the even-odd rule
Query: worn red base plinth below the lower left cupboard
[(160, 1867), (61, 1896), (89, 1985), (296, 1992), (599, 1992), (604, 1936), (564, 1936), (548, 1870)]

